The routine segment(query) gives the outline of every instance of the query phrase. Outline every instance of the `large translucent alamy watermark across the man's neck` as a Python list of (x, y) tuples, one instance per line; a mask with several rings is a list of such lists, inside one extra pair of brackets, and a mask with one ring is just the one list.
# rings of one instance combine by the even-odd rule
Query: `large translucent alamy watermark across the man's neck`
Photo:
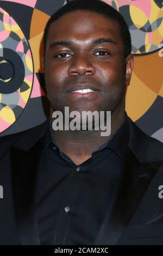
[[(69, 107), (65, 107), (65, 113), (54, 111), (52, 123), (54, 131), (57, 130), (96, 130), (101, 132), (101, 136), (109, 136), (111, 133), (111, 111), (82, 111), (82, 116), (78, 111), (69, 112)], [(71, 121), (70, 121), (71, 120)]]

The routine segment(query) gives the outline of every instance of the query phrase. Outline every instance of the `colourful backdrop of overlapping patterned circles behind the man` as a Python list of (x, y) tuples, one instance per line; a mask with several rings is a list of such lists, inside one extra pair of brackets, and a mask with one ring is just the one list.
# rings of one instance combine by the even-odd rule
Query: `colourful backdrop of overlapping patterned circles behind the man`
[[(47, 118), (48, 101), (40, 61), (42, 35), (49, 17), (67, 2), (0, 0), (1, 136), (26, 130)], [(104, 2), (122, 14), (131, 34), (134, 70), (127, 90), (126, 111), (143, 131), (163, 142), (163, 51), (159, 54), (163, 44), (163, 1)], [(17, 75), (18, 67), (22, 72)]]

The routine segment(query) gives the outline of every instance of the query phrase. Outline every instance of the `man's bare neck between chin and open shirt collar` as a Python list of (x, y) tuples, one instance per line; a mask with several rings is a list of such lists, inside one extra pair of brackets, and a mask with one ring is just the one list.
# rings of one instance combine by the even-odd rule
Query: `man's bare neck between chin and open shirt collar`
[[(109, 136), (101, 136), (101, 130), (87, 130), (87, 131), (72, 131), (72, 130), (57, 130), (52, 128), (55, 144), (73, 160), (86, 160), (92, 155), (92, 152), (97, 150), (104, 144), (121, 126), (124, 120), (124, 109), (116, 109), (111, 114), (111, 133)], [(53, 109), (51, 108), (51, 117)], [(53, 121), (53, 118), (51, 118)], [(79, 162), (80, 162), (79, 160)]]

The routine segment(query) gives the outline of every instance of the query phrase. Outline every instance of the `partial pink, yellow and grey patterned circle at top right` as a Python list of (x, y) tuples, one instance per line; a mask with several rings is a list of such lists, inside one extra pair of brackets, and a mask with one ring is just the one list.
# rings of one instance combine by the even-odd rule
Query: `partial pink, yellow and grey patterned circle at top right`
[(134, 54), (158, 51), (163, 43), (163, 8), (161, 0), (104, 1), (118, 10), (126, 20)]

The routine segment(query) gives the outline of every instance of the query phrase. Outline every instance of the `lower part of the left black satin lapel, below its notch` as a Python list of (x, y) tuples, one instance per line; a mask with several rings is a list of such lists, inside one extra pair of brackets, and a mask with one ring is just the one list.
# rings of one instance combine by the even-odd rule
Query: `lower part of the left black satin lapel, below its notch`
[(36, 221), (38, 143), (30, 150), (11, 148), (12, 194), (22, 245), (40, 245)]

